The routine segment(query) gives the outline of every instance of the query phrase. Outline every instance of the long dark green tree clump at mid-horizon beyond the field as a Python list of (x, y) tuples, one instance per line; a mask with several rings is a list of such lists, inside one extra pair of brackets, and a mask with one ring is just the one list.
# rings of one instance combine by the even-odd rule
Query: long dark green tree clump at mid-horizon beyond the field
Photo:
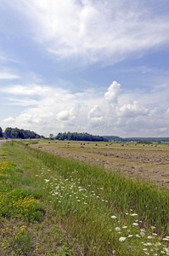
[(96, 136), (88, 134), (87, 132), (78, 133), (78, 132), (64, 132), (55, 137), (57, 140), (70, 140), (70, 141), (91, 141), (91, 142), (108, 142), (108, 140), (101, 136)]

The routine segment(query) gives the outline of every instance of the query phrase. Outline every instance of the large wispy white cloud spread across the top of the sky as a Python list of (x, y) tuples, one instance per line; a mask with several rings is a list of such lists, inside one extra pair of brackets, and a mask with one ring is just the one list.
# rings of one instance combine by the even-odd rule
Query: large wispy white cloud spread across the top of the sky
[(57, 58), (108, 65), (169, 43), (168, 16), (157, 15), (152, 7), (134, 0), (15, 0), (8, 4), (30, 20), (35, 40)]

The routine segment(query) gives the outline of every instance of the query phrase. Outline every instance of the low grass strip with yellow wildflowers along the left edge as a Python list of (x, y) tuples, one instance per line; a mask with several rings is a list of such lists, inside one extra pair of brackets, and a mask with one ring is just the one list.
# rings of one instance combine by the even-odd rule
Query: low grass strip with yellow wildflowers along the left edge
[(27, 175), (9, 160), (8, 148), (1, 149), (0, 255), (73, 255), (76, 250), (58, 228), (54, 211), (39, 202), (42, 193)]

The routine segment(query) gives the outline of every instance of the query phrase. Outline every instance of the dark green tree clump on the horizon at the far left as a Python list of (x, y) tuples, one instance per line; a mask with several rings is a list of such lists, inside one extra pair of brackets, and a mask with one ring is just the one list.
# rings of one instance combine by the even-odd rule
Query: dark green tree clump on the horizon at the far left
[[(29, 139), (29, 138), (42, 138), (42, 136), (38, 135), (34, 131), (18, 129), (18, 128), (11, 128), (8, 127), (4, 131), (4, 137), (10, 138), (21, 138), (21, 139)], [(0, 127), (0, 137), (3, 137), (3, 130)]]

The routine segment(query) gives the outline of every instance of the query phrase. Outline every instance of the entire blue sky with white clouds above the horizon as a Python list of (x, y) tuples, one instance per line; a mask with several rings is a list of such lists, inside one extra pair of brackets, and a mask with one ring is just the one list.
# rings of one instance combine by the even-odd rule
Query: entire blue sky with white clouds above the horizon
[(169, 1), (1, 0), (0, 127), (169, 137)]

